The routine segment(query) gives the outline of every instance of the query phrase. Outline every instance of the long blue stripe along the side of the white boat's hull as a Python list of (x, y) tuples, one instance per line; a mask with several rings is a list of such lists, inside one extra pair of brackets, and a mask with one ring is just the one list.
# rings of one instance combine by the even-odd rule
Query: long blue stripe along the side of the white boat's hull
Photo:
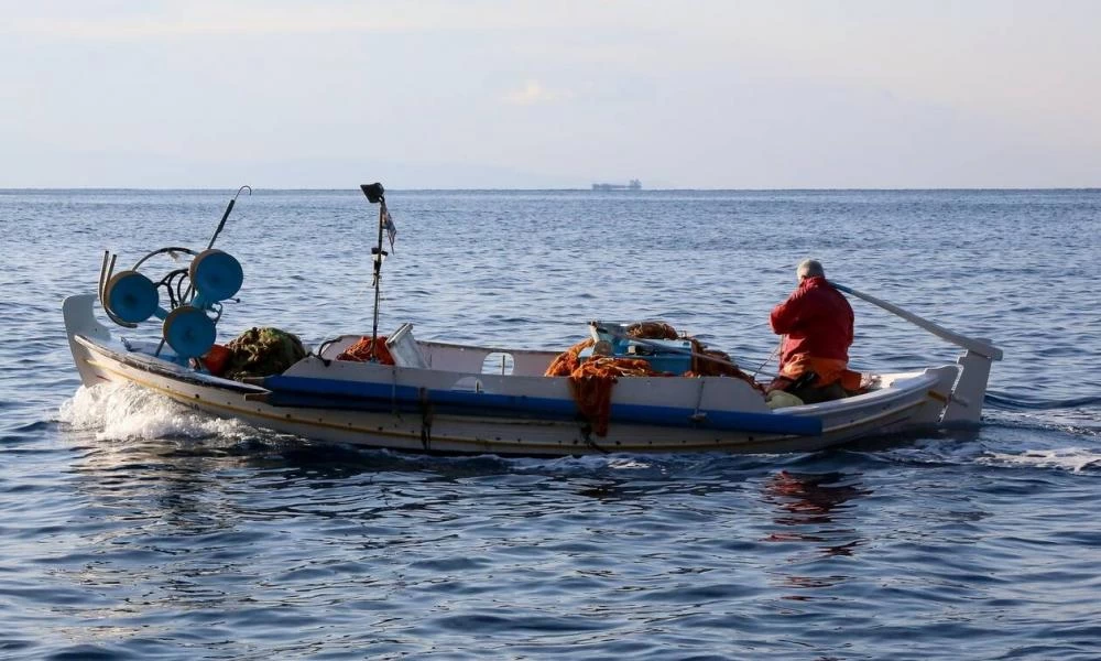
[[(285, 407), (419, 411), (424, 405), (432, 405), (438, 411), (447, 409), (455, 413), (469, 415), (511, 415), (555, 420), (573, 419), (578, 413), (577, 404), (573, 400), (462, 390), (421, 389), (412, 386), (363, 381), (274, 376), (264, 379), (264, 387), (272, 391), (269, 397), (272, 404)], [(329, 395), (337, 399), (326, 400), (323, 397), (313, 395)], [(699, 418), (696, 413), (694, 409), (677, 407), (612, 404), (611, 421), (799, 436), (817, 436), (821, 434), (822, 429), (820, 420), (802, 415), (699, 411), (704, 414), (702, 418)]]

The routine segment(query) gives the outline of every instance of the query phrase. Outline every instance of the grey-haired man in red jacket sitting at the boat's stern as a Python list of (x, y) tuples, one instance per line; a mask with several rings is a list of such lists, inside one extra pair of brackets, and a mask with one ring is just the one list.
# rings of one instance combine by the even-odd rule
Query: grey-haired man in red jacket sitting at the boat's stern
[(852, 307), (819, 261), (804, 260), (795, 273), (799, 285), (768, 317), (784, 338), (780, 375), (766, 391), (783, 390), (807, 404), (840, 399), (860, 388), (860, 375), (848, 369)]

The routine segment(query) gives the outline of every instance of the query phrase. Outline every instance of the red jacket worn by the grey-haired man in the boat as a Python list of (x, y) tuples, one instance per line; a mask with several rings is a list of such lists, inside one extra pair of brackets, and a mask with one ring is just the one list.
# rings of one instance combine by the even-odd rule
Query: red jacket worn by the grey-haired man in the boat
[(849, 360), (852, 344), (852, 307), (825, 278), (807, 278), (792, 295), (773, 308), (768, 323), (783, 334), (780, 365), (793, 356)]

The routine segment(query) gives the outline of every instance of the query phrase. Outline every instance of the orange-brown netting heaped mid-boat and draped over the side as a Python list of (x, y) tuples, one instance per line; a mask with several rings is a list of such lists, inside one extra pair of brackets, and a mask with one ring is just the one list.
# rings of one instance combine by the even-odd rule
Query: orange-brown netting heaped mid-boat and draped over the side
[(642, 358), (618, 358), (614, 356), (593, 355), (581, 362), (578, 355), (593, 346), (590, 337), (579, 342), (558, 355), (550, 362), (544, 376), (569, 377), (569, 391), (577, 402), (581, 415), (590, 422), (592, 431), (598, 436), (608, 434), (608, 420), (611, 416), (612, 387), (620, 377), (734, 377), (760, 390), (761, 386), (753, 377), (743, 372), (734, 365), (730, 356), (723, 351), (708, 349), (695, 337), (682, 336), (676, 328), (665, 322), (641, 322), (626, 328), (628, 337), (637, 339), (678, 339), (684, 337), (691, 343), (691, 369), (683, 375), (655, 371), (647, 360)]

